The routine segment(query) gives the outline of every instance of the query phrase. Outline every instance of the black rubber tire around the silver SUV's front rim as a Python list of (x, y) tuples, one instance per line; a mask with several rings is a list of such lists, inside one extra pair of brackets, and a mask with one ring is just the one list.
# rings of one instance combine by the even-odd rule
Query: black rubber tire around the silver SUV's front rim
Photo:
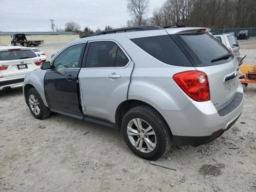
[[(33, 94), (36, 97), (36, 99), (38, 100), (39, 108), (40, 108), (40, 112), (39, 112), (38, 115), (36, 115), (32, 111), (32, 108), (31, 108), (31, 106), (29, 104), (29, 97), (30, 97), (31, 94)], [(29, 108), (30, 112), (32, 113), (32, 115), (35, 118), (37, 118), (37, 119), (45, 119), (45, 118), (47, 118), (47, 117), (49, 117), (51, 115), (50, 109), (44, 105), (44, 102), (43, 102), (40, 94), (38, 93), (38, 91), (35, 88), (31, 88), (30, 90), (28, 90), (26, 102), (28, 104), (28, 108)]]

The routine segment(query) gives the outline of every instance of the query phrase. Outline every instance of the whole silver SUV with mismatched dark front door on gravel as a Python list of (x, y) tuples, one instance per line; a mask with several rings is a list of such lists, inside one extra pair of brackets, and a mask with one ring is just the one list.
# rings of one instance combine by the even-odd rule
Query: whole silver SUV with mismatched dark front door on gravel
[(26, 76), (26, 104), (38, 119), (56, 112), (121, 129), (146, 159), (205, 144), (236, 122), (244, 99), (236, 58), (208, 32), (138, 26), (75, 40)]

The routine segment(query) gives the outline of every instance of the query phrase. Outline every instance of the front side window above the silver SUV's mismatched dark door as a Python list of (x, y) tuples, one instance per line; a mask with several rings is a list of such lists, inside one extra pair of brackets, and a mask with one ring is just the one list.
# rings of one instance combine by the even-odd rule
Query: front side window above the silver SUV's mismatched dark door
[(71, 46), (60, 53), (54, 60), (54, 69), (79, 68), (79, 58), (84, 44)]

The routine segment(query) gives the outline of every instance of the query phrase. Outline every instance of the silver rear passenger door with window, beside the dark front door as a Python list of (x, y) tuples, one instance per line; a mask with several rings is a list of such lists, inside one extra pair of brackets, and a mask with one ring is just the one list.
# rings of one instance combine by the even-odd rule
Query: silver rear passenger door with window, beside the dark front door
[(83, 112), (112, 119), (117, 106), (127, 100), (133, 62), (113, 40), (91, 41), (79, 73)]

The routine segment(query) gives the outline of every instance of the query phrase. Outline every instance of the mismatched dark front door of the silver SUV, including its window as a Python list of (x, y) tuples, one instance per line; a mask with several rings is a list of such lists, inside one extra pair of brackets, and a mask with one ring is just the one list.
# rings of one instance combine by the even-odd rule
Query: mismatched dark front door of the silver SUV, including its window
[(62, 51), (51, 63), (44, 77), (46, 102), (51, 110), (82, 114), (79, 105), (78, 73), (86, 44), (76, 44)]

